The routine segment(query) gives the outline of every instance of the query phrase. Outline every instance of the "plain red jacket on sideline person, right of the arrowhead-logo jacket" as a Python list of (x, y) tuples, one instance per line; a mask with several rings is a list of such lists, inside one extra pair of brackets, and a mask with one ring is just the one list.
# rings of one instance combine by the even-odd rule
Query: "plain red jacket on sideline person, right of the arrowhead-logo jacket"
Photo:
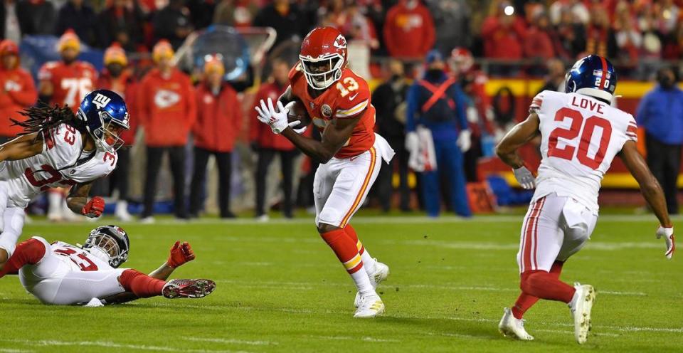
[(231, 152), (242, 128), (242, 105), (237, 93), (230, 85), (223, 84), (218, 95), (214, 95), (205, 83), (195, 93), (194, 145), (215, 152)]

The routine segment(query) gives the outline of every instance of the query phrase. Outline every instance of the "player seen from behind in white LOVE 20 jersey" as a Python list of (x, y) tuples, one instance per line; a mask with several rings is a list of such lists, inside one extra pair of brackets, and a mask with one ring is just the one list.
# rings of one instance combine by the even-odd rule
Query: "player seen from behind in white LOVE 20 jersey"
[[(522, 315), (539, 299), (566, 302), (574, 335), (586, 342), (591, 328), (595, 290), (559, 280), (563, 263), (588, 241), (598, 220), (600, 181), (619, 156), (640, 185), (660, 221), (657, 238), (666, 241), (665, 255), (674, 253), (674, 231), (660, 184), (637, 151), (632, 115), (610, 107), (617, 83), (612, 64), (600, 56), (578, 60), (566, 76), (566, 93), (536, 95), (529, 117), (498, 144), (496, 152), (514, 169), (524, 189), (536, 192), (521, 229), (517, 263), (521, 294), (505, 308), (499, 330), (505, 336), (534, 339), (524, 330)], [(534, 178), (517, 149), (541, 137), (541, 166)]]

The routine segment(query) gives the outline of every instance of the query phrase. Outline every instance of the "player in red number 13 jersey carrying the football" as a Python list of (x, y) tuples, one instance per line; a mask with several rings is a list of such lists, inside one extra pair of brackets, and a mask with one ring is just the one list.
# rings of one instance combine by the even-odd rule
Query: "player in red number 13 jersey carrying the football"
[[(346, 38), (336, 28), (320, 27), (308, 33), (300, 62), (290, 71), (290, 87), (277, 101), (257, 106), (258, 119), (270, 125), (321, 165), (315, 173), (315, 225), (353, 278), (356, 294), (354, 317), (374, 317), (384, 311), (375, 288), (389, 268), (372, 258), (349, 224), (374, 183), (381, 160), (389, 162), (393, 149), (374, 133), (375, 108), (366, 81), (346, 68)], [(287, 122), (288, 102), (306, 107), (322, 141), (293, 130)]]

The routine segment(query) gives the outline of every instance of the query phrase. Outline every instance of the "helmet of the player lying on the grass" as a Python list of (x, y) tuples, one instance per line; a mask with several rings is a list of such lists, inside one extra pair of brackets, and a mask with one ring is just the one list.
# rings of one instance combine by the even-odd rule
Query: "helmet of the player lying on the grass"
[(117, 268), (128, 260), (128, 233), (119, 226), (97, 227), (90, 231), (83, 249)]

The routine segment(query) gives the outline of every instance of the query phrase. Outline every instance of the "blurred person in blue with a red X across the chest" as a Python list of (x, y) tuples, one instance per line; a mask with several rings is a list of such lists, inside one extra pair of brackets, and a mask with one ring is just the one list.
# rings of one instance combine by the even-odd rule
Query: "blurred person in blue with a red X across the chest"
[(439, 51), (430, 51), (426, 58), (428, 70), (423, 80), (417, 80), (408, 90), (406, 112), (406, 149), (411, 154), (418, 152), (421, 142), (417, 125), (430, 131), (433, 140), (436, 166), (425, 169), (421, 174), (423, 198), (427, 215), (436, 217), (441, 211), (441, 190), (443, 179), (448, 184), (449, 204), (460, 216), (471, 216), (470, 204), (465, 189), (465, 169), (462, 153), (470, 149), (470, 130), (465, 117), (465, 97), (455, 78), (448, 78), (443, 56)]

